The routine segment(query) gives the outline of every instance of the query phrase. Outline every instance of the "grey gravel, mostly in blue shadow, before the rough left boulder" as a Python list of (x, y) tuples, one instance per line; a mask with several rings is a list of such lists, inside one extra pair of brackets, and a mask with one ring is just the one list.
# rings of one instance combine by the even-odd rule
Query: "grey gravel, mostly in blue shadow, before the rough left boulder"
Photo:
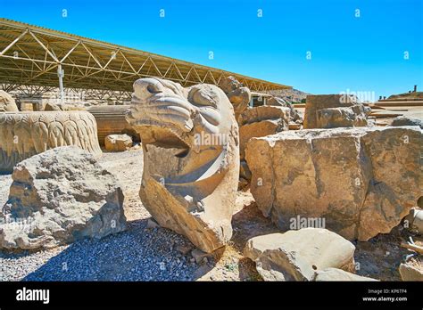
[(187, 281), (198, 266), (176, 247), (187, 243), (166, 229), (131, 222), (127, 232), (34, 254), (0, 254), (2, 281)]

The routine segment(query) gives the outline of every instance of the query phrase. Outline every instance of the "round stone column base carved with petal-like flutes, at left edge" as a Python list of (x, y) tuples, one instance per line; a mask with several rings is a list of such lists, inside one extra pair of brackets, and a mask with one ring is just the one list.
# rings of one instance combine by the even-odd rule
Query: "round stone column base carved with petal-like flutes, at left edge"
[(0, 173), (58, 146), (76, 145), (98, 157), (96, 132), (95, 118), (85, 111), (0, 113)]

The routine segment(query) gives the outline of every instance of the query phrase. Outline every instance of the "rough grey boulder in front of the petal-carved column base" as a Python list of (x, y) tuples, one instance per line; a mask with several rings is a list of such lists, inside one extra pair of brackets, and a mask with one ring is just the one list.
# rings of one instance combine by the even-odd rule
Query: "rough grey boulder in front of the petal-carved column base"
[(46, 249), (126, 228), (117, 179), (76, 146), (21, 161), (0, 212), (0, 248)]

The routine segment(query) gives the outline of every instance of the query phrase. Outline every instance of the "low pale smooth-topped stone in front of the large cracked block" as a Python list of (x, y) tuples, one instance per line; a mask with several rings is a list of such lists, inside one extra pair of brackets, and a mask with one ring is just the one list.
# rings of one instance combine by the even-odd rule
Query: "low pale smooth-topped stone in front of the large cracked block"
[(355, 247), (350, 241), (322, 228), (270, 233), (247, 241), (245, 257), (255, 261), (267, 281), (312, 281), (328, 267), (354, 270)]

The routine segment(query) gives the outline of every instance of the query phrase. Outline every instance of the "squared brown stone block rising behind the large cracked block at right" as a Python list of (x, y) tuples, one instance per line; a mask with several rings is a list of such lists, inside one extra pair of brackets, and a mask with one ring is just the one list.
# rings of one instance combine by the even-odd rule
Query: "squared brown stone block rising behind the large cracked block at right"
[[(333, 108), (342, 109), (328, 110)], [(319, 110), (326, 111), (319, 113)], [(303, 126), (306, 129), (321, 126), (366, 126), (367, 122), (363, 118), (368, 113), (369, 109), (363, 107), (359, 99), (351, 94), (309, 94), (305, 103)]]

